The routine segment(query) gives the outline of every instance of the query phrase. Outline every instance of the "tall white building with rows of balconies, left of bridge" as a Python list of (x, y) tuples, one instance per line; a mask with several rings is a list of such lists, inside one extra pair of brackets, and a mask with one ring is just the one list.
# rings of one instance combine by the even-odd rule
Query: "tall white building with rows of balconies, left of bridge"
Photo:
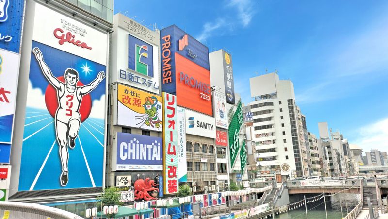
[(275, 173), (286, 179), (304, 175), (299, 145), (293, 84), (276, 73), (250, 78), (252, 142), (262, 175)]

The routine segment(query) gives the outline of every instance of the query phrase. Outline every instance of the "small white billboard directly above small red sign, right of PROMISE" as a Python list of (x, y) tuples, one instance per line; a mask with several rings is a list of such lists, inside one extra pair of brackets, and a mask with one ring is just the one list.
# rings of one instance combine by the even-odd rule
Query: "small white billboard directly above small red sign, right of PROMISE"
[(220, 128), (228, 129), (226, 96), (224, 93), (213, 91), (213, 109), (215, 125)]

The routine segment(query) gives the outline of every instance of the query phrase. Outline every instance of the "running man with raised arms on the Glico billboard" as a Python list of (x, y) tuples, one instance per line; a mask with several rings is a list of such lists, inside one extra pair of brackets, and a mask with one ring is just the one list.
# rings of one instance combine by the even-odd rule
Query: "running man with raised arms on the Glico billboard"
[(58, 109), (55, 112), (55, 133), (59, 144), (59, 156), (61, 157), (62, 173), (60, 183), (67, 185), (69, 152), (67, 145), (73, 149), (75, 138), (81, 125), (81, 115), (79, 113), (82, 96), (90, 93), (97, 85), (104, 80), (105, 73), (100, 71), (97, 78), (90, 84), (77, 86), (79, 80), (78, 72), (75, 69), (65, 70), (65, 83), (59, 81), (52, 75), (50, 68), (43, 60), (42, 52), (38, 47), (32, 49), (40, 69), (45, 78), (56, 89), (58, 98)]

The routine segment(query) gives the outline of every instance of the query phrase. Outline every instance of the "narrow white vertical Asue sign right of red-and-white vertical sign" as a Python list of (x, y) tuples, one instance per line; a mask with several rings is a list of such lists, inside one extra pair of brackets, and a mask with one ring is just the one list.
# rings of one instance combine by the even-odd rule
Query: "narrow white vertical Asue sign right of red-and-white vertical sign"
[(178, 113), (178, 152), (179, 152), (179, 183), (187, 182), (186, 163), (186, 124), (185, 108), (177, 107)]

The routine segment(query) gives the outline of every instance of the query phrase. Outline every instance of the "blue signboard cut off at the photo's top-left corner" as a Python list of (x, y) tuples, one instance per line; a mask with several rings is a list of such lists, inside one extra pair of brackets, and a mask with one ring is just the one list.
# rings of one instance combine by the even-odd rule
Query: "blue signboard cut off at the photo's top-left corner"
[(0, 48), (20, 52), (24, 0), (0, 1)]

